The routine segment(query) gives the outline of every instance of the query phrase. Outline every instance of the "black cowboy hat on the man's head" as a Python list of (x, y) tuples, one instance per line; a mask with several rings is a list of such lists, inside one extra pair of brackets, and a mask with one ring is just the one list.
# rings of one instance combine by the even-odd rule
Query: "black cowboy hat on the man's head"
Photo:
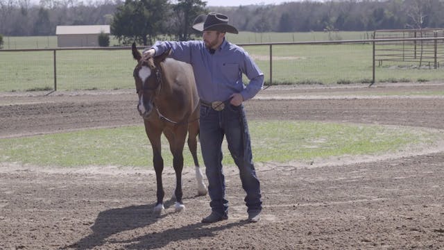
[(228, 17), (221, 13), (210, 12), (208, 15), (198, 15), (194, 19), (193, 28), (196, 31), (221, 31), (237, 34), (237, 28), (228, 24)]

